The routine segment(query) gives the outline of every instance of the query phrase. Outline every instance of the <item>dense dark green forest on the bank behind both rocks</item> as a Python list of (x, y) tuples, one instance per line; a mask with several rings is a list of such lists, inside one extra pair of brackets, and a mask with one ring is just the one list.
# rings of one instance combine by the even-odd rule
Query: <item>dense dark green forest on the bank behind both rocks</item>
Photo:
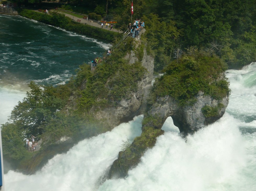
[[(27, 3), (23, 0), (18, 2)], [(29, 1), (38, 2), (40, 0)], [(138, 0), (133, 2), (133, 19), (130, 0), (60, 2), (66, 3), (64, 7), (72, 5), (81, 11), (83, 8), (90, 9), (91, 13), (117, 21), (116, 26), (123, 30), (136, 18), (144, 20), (147, 37), (152, 40), (150, 46), (155, 50), (155, 67), (158, 70), (168, 64), (173, 48), (176, 47), (183, 50), (189, 46), (206, 47), (232, 68), (239, 68), (256, 60), (256, 3), (253, 0)], [(90, 34), (89, 31), (94, 30), (88, 27), (88, 30), (77, 29), (77, 26), (69, 24), (63, 28), (74, 28), (77, 32), (86, 31), (89, 35), (113, 40), (112, 37), (106, 38), (106, 34), (101, 34), (102, 30)]]

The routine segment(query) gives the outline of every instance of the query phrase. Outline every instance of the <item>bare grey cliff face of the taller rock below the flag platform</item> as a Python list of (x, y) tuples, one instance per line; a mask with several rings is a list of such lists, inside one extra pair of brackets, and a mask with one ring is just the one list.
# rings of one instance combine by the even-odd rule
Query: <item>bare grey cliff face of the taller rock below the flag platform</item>
[[(141, 43), (140, 37), (135, 39), (134, 49), (138, 47), (144, 47)], [(131, 51), (126, 55), (125, 59), (130, 64), (139, 61), (135, 51)], [(134, 116), (139, 115), (141, 110), (144, 110), (146, 106), (146, 98), (151, 88), (151, 81), (153, 79), (154, 59), (148, 55), (146, 49), (143, 48), (143, 57), (140, 61), (141, 65), (146, 68), (146, 73), (141, 81), (138, 81), (138, 91), (131, 92), (128, 96), (130, 99), (122, 99), (115, 107), (108, 107), (100, 110), (96, 110), (94, 107), (91, 109), (91, 113), (94, 113), (94, 117), (98, 120), (104, 119), (105, 125), (114, 128), (123, 122), (132, 120)]]

